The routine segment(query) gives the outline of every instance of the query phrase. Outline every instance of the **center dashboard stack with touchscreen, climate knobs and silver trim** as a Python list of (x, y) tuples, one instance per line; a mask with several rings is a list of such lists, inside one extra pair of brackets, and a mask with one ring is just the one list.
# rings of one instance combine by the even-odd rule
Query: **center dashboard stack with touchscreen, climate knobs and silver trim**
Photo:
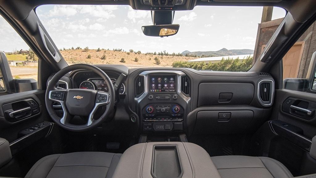
[[(190, 97), (183, 94), (181, 71), (144, 71), (144, 92), (135, 98), (143, 132), (183, 132)], [(141, 80), (137, 85), (142, 85)]]

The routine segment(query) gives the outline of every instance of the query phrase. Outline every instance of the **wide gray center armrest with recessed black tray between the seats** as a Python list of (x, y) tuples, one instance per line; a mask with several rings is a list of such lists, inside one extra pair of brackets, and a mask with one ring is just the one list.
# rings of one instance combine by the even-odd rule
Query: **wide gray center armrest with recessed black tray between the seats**
[(218, 177), (210, 155), (188, 142), (149, 142), (128, 148), (117, 165), (113, 178), (194, 178)]

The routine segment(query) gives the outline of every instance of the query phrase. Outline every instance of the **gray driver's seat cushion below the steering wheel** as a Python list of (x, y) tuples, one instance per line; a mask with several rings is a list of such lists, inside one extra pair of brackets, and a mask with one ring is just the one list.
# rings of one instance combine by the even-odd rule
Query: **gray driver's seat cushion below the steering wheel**
[(37, 161), (25, 177), (112, 177), (122, 154), (73, 152)]

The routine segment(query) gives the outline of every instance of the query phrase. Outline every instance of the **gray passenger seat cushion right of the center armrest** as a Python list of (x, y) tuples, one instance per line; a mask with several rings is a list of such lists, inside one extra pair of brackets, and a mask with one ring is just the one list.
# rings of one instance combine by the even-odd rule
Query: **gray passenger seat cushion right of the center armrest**
[(279, 161), (267, 157), (211, 157), (222, 178), (289, 178), (291, 172)]

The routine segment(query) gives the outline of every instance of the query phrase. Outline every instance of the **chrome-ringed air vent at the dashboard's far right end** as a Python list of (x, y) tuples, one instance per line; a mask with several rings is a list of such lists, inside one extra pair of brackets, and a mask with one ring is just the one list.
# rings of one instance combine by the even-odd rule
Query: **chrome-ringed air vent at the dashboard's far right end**
[(270, 106), (273, 100), (273, 81), (261, 80), (258, 84), (258, 99), (264, 106)]

